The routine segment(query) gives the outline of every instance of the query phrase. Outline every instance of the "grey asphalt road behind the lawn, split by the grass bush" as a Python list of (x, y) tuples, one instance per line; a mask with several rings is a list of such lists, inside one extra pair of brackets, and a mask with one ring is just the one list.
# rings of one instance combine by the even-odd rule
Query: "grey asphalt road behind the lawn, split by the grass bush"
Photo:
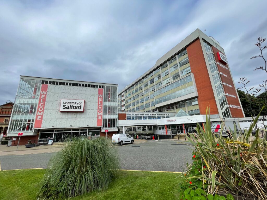
[[(118, 148), (121, 169), (181, 172), (186, 162), (192, 162), (191, 147), (171, 140), (126, 144)], [(46, 168), (53, 154), (2, 155), (0, 163), (2, 170)]]

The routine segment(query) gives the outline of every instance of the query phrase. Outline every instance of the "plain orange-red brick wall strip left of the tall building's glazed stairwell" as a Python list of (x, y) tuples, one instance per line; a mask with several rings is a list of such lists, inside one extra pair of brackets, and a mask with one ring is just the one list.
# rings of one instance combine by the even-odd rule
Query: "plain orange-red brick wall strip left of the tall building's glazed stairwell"
[(191, 71), (195, 77), (200, 114), (206, 114), (207, 106), (210, 106), (210, 114), (219, 114), (199, 38), (186, 49)]

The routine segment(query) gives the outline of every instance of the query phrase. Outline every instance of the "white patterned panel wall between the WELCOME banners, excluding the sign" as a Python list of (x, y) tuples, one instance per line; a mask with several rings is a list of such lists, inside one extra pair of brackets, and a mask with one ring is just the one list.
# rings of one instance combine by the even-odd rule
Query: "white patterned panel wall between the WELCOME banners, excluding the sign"
[[(96, 126), (97, 96), (98, 88), (48, 85), (42, 128)], [(61, 99), (85, 100), (84, 112), (60, 112)]]

